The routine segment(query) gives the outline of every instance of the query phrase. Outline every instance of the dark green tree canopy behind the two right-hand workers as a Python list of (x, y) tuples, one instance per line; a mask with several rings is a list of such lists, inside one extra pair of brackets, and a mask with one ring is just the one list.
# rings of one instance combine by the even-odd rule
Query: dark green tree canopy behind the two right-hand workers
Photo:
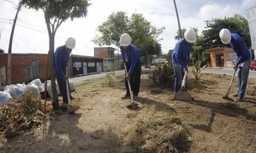
[[(224, 44), (219, 38), (219, 32), (222, 28), (228, 28), (231, 33), (238, 33), (248, 48), (251, 46), (250, 34), (248, 28), (248, 22), (243, 16), (235, 14), (231, 18), (212, 18), (212, 20), (206, 20), (206, 29), (202, 31), (201, 35), (197, 35), (196, 43), (192, 48), (191, 59), (194, 61), (201, 60), (206, 62), (209, 60), (209, 54), (204, 51), (208, 48), (222, 47)], [(193, 28), (198, 34), (197, 28)], [(181, 29), (182, 36), (185, 33), (185, 28)], [(177, 30), (175, 40), (180, 39), (180, 31)]]

